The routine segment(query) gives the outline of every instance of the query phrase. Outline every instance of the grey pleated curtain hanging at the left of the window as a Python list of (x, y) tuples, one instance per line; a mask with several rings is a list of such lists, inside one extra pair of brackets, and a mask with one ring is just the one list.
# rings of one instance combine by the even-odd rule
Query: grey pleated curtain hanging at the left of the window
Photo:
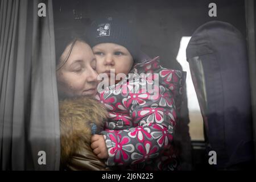
[[(38, 16), (39, 3), (46, 17)], [(0, 85), (0, 169), (59, 169), (51, 0), (0, 0)]]

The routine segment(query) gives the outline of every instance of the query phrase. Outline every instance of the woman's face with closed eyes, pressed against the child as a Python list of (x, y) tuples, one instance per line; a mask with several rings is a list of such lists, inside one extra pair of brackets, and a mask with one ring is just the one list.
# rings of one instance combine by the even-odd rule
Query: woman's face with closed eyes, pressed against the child
[[(65, 49), (60, 57), (60, 65), (72, 44)], [(92, 49), (77, 40), (66, 63), (57, 71), (57, 85), (59, 94), (63, 97), (94, 96), (97, 92), (96, 58)]]

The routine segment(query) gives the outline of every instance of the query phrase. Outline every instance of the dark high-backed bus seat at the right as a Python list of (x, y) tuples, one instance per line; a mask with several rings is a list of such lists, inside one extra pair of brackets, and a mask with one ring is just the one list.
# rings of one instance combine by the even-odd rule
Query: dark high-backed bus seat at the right
[(229, 23), (212, 21), (192, 35), (187, 47), (208, 151), (217, 168), (254, 160), (246, 42)]

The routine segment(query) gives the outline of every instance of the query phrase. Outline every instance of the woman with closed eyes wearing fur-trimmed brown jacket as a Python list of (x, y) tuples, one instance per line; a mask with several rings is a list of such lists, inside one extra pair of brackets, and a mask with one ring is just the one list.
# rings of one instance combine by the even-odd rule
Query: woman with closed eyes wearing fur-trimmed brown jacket
[[(61, 48), (56, 46), (57, 48)], [(61, 130), (61, 169), (105, 170), (93, 154), (90, 138), (103, 125), (107, 112), (92, 97), (97, 91), (96, 59), (84, 41), (74, 39), (58, 56), (57, 87)]]

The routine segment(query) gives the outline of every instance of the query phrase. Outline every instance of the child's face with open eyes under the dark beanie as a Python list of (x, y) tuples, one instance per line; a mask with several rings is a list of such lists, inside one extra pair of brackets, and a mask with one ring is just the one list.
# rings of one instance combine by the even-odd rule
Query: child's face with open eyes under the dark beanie
[[(101, 43), (93, 47), (96, 56), (96, 71), (98, 74), (107, 73), (110, 78), (110, 69), (115, 69), (115, 75), (128, 75), (133, 67), (133, 57), (123, 46), (114, 43)], [(114, 78), (111, 77), (111, 78)], [(119, 80), (115, 80), (117, 83)]]

